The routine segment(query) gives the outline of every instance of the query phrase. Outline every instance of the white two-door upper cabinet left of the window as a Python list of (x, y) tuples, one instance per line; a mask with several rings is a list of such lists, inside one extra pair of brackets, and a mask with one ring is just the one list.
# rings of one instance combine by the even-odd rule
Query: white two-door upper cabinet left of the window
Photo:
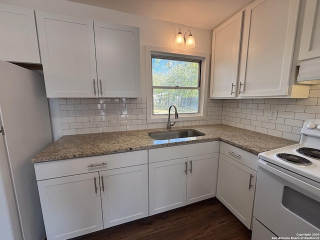
[(140, 96), (138, 27), (38, 11), (36, 20), (47, 97)]

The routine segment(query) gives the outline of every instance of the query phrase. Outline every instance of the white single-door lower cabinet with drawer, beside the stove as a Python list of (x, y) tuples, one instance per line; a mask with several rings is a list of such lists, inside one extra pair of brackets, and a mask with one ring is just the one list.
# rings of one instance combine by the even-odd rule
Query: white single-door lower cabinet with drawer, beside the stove
[(216, 197), (249, 229), (257, 159), (257, 155), (221, 142)]

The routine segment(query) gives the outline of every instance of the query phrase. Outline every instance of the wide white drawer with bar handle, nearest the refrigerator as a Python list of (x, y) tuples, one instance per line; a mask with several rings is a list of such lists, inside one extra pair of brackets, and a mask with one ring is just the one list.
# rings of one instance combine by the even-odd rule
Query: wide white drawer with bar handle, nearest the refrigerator
[[(106, 163), (105, 165), (98, 165)], [(147, 150), (46, 161), (34, 164), (36, 180), (147, 163)], [(88, 167), (89, 165), (98, 165)]]

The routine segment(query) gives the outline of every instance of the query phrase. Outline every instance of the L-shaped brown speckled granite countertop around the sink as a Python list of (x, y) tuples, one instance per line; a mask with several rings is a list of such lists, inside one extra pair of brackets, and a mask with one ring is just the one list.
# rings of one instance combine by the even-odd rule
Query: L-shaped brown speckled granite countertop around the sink
[(224, 124), (172, 127), (171, 130), (190, 128), (204, 132), (206, 135), (186, 137), (183, 141), (171, 139), (170, 142), (168, 140), (153, 140), (147, 134), (150, 131), (165, 129), (65, 135), (35, 155), (31, 162), (38, 163), (215, 140), (224, 141), (254, 154), (297, 143)]

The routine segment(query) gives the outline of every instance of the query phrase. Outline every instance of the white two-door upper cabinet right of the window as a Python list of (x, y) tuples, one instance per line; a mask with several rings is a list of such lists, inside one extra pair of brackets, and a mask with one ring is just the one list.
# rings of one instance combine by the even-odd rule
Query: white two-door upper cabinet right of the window
[(255, 0), (213, 30), (210, 98), (308, 97), (308, 85), (294, 84), (299, 7)]

